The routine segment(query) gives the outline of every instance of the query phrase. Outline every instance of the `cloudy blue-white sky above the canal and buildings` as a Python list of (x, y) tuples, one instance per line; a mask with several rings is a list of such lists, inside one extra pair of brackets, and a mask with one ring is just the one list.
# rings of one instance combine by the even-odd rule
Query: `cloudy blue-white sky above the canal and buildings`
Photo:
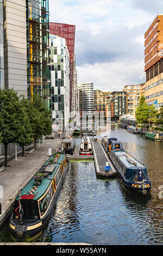
[(49, 21), (76, 25), (78, 83), (122, 90), (144, 83), (144, 35), (163, 0), (49, 0)]

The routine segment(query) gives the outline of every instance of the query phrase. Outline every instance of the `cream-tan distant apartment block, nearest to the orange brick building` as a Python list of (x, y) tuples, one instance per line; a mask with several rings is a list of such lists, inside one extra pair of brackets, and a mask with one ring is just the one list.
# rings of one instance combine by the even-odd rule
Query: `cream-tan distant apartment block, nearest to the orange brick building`
[(126, 114), (135, 117), (141, 96), (141, 84), (124, 86), (124, 91), (126, 92)]

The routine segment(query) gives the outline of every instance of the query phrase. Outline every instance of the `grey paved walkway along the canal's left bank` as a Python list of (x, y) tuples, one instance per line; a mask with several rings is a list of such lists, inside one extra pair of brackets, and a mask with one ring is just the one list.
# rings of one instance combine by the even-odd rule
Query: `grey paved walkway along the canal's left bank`
[(17, 161), (10, 161), (9, 167), (0, 172), (0, 202), (2, 203), (0, 225), (10, 214), (18, 189), (26, 185), (28, 180), (47, 161), (48, 149), (58, 150), (61, 141), (61, 139), (45, 139), (43, 144), (40, 143), (40, 147), (37, 143), (36, 150), (24, 157), (18, 156)]

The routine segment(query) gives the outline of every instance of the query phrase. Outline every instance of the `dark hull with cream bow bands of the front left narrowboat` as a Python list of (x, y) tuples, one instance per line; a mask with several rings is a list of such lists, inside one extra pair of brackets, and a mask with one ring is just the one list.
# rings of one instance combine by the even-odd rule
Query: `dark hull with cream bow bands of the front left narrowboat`
[(63, 184), (66, 174), (68, 172), (68, 167), (69, 163), (67, 163), (67, 166), (65, 167), (64, 173), (62, 174), (59, 184), (57, 186), (57, 190), (55, 191), (53, 199), (51, 200), (51, 204), (49, 205), (47, 213), (43, 218), (37, 221), (22, 220), (23, 223), (21, 225), (20, 220), (15, 220), (13, 218), (14, 213), (12, 213), (10, 217), (10, 233), (13, 237), (20, 238), (27, 235), (34, 236), (40, 233), (40, 231), (42, 231), (46, 227), (46, 224), (48, 223), (49, 218), (52, 215), (52, 211), (54, 209), (55, 202), (57, 201), (61, 185)]

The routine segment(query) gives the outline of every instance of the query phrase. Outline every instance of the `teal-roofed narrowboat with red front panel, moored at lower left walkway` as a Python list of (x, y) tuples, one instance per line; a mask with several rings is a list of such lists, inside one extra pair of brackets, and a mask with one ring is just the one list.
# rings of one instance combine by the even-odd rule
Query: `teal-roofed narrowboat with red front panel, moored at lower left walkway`
[(66, 155), (55, 153), (18, 191), (10, 217), (12, 236), (38, 234), (46, 226), (67, 170)]

